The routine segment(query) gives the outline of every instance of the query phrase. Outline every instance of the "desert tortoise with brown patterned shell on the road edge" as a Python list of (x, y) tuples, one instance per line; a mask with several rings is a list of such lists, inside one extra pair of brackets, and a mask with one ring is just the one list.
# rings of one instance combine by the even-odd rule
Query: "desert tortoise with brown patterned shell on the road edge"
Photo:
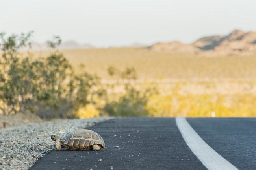
[(96, 132), (87, 129), (74, 130), (66, 133), (63, 137), (51, 135), (56, 141), (55, 150), (66, 148), (69, 150), (104, 150), (105, 143)]

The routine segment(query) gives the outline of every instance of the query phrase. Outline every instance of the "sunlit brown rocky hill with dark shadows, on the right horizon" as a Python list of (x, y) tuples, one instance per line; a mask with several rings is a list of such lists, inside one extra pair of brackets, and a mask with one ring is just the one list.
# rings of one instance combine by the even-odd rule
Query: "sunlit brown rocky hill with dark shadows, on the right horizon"
[(256, 32), (234, 30), (224, 36), (203, 37), (192, 44), (180, 42), (156, 43), (150, 46), (153, 51), (192, 52), (212, 55), (238, 55), (256, 53)]

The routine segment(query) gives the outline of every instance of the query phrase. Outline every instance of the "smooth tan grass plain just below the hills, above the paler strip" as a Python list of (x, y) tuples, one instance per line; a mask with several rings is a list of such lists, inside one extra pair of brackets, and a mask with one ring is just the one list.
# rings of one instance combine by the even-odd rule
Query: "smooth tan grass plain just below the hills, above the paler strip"
[[(256, 79), (256, 55), (191, 57), (188, 53), (153, 52), (146, 48), (81, 49), (62, 51), (74, 66), (109, 79), (107, 68), (134, 66), (139, 79)], [(37, 52), (46, 56), (49, 52)]]

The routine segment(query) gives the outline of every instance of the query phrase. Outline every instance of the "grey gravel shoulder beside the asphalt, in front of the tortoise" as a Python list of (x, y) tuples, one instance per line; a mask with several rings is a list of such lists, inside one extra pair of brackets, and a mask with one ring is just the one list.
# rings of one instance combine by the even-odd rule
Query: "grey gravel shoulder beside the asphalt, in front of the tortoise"
[(89, 128), (110, 117), (69, 119), (0, 128), (0, 170), (27, 170), (54, 149), (50, 135)]

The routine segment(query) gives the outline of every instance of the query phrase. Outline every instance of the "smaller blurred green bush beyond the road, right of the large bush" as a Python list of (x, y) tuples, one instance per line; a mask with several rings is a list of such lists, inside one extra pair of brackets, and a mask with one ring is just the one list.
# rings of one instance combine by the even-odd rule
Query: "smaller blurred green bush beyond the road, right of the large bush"
[[(147, 116), (148, 110), (145, 106), (149, 97), (158, 92), (156, 88), (137, 87), (135, 82), (137, 73), (133, 67), (119, 71), (111, 66), (108, 68), (108, 73), (115, 77), (117, 82), (108, 86), (112, 89), (112, 93), (106, 97), (103, 112), (111, 116)], [(122, 89), (121, 93), (115, 93), (118, 88)]]

